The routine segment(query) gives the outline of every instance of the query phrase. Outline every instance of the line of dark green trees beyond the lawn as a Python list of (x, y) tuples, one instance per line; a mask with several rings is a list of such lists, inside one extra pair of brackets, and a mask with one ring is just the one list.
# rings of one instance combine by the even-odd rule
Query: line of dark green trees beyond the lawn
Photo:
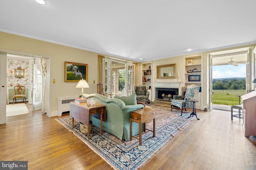
[(246, 80), (244, 79), (222, 79), (222, 80), (212, 80), (213, 90), (245, 90)]

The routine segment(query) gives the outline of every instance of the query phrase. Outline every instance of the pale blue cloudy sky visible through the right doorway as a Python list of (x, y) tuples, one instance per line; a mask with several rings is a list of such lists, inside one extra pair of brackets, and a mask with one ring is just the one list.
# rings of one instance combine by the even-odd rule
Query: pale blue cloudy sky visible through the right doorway
[(246, 64), (221, 65), (212, 67), (212, 78), (246, 77)]

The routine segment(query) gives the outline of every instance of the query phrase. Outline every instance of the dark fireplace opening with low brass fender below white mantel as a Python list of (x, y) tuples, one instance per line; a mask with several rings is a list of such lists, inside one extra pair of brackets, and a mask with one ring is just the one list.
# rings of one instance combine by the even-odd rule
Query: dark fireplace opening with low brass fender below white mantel
[(179, 94), (179, 88), (155, 88), (155, 104), (170, 106), (173, 95)]

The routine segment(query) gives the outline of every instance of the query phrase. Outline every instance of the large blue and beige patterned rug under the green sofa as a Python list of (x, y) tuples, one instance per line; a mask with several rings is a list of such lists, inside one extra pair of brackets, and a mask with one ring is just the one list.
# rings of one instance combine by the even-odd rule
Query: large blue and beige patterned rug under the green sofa
[[(196, 117), (187, 118), (190, 113), (171, 111), (169, 107), (151, 106), (156, 114), (156, 135), (152, 132), (142, 135), (142, 146), (139, 141), (120, 141), (115, 136), (102, 131), (92, 125), (90, 140), (87, 133), (80, 132), (79, 122), (74, 119), (72, 128), (72, 117), (65, 116), (56, 118), (64, 127), (80, 138), (88, 147), (101, 156), (110, 166), (118, 170), (132, 170), (141, 168), (154, 154), (166, 143), (175, 137), (188, 123)], [(152, 129), (153, 123), (147, 123), (147, 128)]]

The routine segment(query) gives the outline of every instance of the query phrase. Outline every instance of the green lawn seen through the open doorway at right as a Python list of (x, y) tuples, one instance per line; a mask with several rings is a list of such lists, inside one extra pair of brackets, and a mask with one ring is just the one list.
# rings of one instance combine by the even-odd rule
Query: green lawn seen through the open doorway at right
[(246, 94), (246, 90), (212, 90), (212, 104), (237, 105), (238, 95)]

